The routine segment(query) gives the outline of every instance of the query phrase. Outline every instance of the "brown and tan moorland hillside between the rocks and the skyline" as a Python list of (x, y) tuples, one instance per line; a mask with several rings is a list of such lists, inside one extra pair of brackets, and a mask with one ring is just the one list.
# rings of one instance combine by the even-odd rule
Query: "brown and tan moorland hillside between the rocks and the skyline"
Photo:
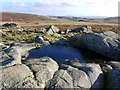
[[(41, 16), (35, 14), (24, 14), (24, 13), (10, 13), (10, 12), (2, 12), (2, 22), (0, 24), (4, 24), (6, 22), (13, 22), (19, 24), (24, 28), (44, 28), (49, 27), (51, 25), (57, 26), (60, 30), (67, 30), (78, 28), (81, 26), (89, 25), (92, 26), (93, 31), (107, 31), (114, 30), (118, 31), (118, 24), (116, 23), (107, 23), (111, 19), (88, 19), (88, 18), (80, 18), (80, 17), (48, 17)], [(104, 20), (104, 21), (103, 21)], [(106, 22), (106, 23), (105, 23)]]

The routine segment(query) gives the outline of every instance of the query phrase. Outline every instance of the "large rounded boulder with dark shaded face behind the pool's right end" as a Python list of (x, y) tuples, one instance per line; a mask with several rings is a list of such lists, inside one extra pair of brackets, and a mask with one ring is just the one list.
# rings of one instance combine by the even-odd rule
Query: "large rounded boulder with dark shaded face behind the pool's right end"
[(112, 31), (76, 35), (69, 40), (79, 48), (87, 48), (107, 57), (120, 60), (120, 36)]

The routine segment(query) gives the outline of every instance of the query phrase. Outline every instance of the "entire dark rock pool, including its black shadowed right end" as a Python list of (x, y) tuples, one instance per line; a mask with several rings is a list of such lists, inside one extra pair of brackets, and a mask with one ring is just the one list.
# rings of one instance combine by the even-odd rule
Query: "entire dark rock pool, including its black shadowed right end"
[(28, 58), (40, 58), (48, 56), (58, 63), (67, 63), (71, 60), (79, 60), (81, 63), (103, 63), (112, 59), (100, 55), (91, 50), (81, 50), (70, 46), (48, 45), (29, 52)]

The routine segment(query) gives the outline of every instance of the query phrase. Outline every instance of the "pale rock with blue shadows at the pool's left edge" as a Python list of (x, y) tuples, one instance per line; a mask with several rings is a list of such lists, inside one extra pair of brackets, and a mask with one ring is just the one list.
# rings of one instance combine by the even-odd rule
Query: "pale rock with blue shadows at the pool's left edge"
[[(27, 55), (28, 51), (33, 48), (35, 48), (33, 44), (14, 43), (14, 46), (3, 51), (2, 65), (12, 66), (15, 64), (21, 64), (22, 56)], [(7, 58), (5, 58), (4, 55)]]

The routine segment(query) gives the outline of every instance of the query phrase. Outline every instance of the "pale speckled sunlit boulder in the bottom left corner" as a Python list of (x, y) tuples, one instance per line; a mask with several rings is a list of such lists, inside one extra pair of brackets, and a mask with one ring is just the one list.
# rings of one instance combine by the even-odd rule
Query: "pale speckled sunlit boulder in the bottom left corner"
[(38, 88), (33, 73), (26, 65), (2, 69), (2, 88)]

